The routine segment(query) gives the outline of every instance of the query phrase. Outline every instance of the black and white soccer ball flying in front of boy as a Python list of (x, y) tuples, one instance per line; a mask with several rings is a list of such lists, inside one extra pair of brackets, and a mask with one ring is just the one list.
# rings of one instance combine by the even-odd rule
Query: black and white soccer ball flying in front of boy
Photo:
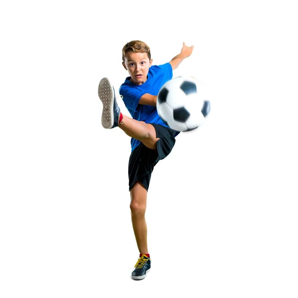
[(198, 86), (192, 76), (177, 76), (160, 88), (157, 113), (170, 128), (187, 132), (203, 124), (210, 112), (210, 102), (201, 98)]

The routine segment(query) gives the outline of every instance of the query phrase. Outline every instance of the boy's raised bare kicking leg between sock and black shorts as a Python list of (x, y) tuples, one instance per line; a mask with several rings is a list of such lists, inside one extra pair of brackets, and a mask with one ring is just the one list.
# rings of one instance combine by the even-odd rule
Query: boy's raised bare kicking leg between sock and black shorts
[(151, 124), (123, 115), (123, 122), (119, 124), (119, 128), (128, 136), (141, 141), (149, 149), (156, 149), (159, 138), (156, 138), (155, 129)]

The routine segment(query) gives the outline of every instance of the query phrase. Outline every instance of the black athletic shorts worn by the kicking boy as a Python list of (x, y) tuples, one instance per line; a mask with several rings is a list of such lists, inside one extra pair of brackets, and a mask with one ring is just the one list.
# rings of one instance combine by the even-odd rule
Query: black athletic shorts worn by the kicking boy
[(140, 143), (132, 151), (128, 163), (129, 190), (139, 180), (148, 191), (154, 166), (171, 152), (176, 142), (175, 136), (179, 133), (159, 124), (150, 124), (155, 128), (156, 138), (160, 138), (156, 142), (157, 150), (149, 149)]

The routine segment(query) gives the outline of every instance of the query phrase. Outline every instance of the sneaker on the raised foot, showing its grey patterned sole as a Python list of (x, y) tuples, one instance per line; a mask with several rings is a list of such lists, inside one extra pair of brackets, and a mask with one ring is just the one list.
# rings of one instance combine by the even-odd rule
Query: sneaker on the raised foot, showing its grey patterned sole
[(118, 126), (120, 109), (116, 101), (115, 89), (109, 78), (104, 77), (100, 80), (98, 96), (103, 105), (101, 115), (102, 126), (106, 129)]

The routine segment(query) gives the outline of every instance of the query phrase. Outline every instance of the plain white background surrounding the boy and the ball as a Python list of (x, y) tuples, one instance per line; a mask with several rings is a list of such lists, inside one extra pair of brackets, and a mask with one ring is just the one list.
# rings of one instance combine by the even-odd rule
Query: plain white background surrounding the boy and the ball
[[(298, 297), (294, 2), (1, 2), (1, 298)], [(152, 174), (140, 282), (130, 138), (97, 96), (134, 39), (153, 64), (194, 45), (174, 76), (211, 102)]]

